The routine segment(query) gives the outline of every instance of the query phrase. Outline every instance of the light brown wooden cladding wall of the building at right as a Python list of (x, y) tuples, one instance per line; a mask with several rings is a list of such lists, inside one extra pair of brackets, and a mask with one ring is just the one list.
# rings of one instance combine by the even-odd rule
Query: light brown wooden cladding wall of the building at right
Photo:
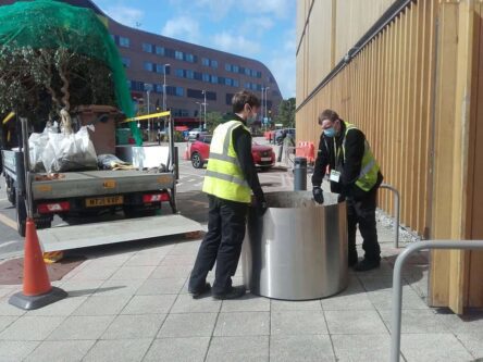
[[(304, 29), (298, 32), (297, 139), (318, 143), (319, 113), (336, 110), (364, 132), (385, 182), (400, 191), (403, 224), (431, 239), (483, 239), (483, 0), (410, 2), (321, 86), (321, 75), (337, 67), (354, 46), (354, 34), (371, 26), (360, 21), (359, 33), (340, 30), (351, 26), (340, 25), (349, 18), (342, 13), (359, 9), (367, 15), (356, 2), (324, 1), (331, 21), (312, 22), (317, 8), (305, 1), (308, 18), (298, 23)], [(391, 5), (364, 3), (379, 5), (377, 16)], [(313, 47), (323, 48), (324, 61)], [(380, 207), (391, 212), (385, 192)], [(429, 304), (457, 313), (483, 307), (483, 252), (432, 252)]]

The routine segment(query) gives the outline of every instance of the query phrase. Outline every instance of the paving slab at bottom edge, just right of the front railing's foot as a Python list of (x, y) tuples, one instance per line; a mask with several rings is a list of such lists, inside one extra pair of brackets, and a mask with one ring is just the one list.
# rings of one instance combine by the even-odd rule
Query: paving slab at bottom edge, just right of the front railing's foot
[(407, 362), (473, 360), (453, 334), (404, 334), (400, 346)]

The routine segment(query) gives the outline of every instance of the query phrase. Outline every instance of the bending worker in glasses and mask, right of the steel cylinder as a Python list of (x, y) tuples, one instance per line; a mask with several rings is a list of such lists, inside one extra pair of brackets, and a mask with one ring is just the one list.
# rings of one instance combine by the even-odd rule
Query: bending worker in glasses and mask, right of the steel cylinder
[[(330, 166), (331, 191), (347, 200), (348, 264), (356, 271), (379, 267), (381, 248), (377, 242), (375, 207), (377, 189), (383, 180), (377, 162), (364, 134), (355, 125), (339, 118), (332, 110), (319, 116), (323, 133), (312, 175), (312, 192), (317, 202), (323, 203), (321, 184)], [(359, 262), (356, 249), (356, 230), (362, 235), (364, 259)]]

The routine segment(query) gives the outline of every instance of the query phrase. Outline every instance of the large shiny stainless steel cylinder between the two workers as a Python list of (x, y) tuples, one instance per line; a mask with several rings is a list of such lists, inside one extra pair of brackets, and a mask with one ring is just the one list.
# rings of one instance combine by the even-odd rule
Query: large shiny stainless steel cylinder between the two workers
[(310, 191), (267, 192), (260, 216), (250, 211), (243, 247), (244, 283), (255, 295), (285, 300), (319, 299), (347, 287), (346, 203)]

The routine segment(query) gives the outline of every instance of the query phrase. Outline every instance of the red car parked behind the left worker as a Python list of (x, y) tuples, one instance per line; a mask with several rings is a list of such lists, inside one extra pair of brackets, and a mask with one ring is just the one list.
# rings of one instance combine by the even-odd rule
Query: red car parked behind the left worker
[[(201, 168), (208, 162), (210, 154), (211, 135), (201, 135), (197, 140), (188, 143), (188, 158), (195, 168)], [(272, 147), (258, 145), (251, 146), (251, 155), (256, 166), (268, 170), (275, 164), (275, 152)]]

